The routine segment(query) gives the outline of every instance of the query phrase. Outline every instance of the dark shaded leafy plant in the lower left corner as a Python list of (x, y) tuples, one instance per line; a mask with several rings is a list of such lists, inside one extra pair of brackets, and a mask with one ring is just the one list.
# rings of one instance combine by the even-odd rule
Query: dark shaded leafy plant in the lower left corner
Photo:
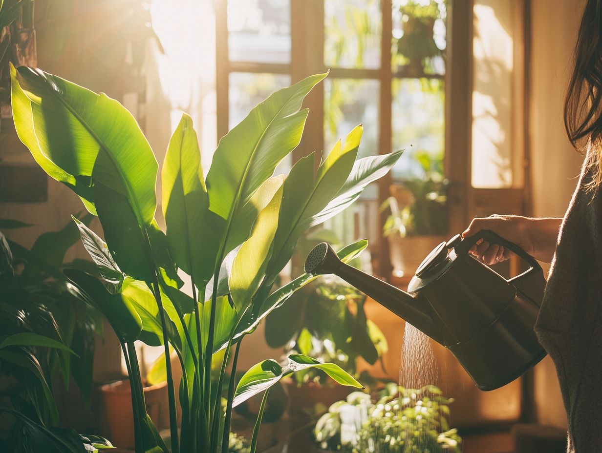
[[(82, 217), (85, 223), (91, 219)], [(27, 226), (0, 219), (0, 229)], [(0, 436), (2, 451), (81, 452), (84, 444), (93, 451), (110, 446), (99, 437), (56, 428), (52, 383), (58, 378), (69, 388), (73, 377), (89, 402), (95, 337), (102, 333), (100, 313), (61, 273), (73, 265), (64, 263), (64, 256), (78, 240), (73, 223), (43, 233), (31, 250), (0, 232), (0, 396), (5, 398), (0, 413), (15, 419)]]

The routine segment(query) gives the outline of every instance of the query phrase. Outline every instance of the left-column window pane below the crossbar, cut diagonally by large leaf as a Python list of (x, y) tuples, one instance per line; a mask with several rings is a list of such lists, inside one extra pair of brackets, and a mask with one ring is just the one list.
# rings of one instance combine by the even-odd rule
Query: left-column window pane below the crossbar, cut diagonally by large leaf
[[(228, 128), (240, 123), (259, 102), (274, 91), (288, 87), (291, 78), (282, 74), (256, 74), (232, 72), (229, 79), (229, 118)], [(291, 168), (291, 155), (288, 155), (276, 168), (275, 174), (288, 173)]]

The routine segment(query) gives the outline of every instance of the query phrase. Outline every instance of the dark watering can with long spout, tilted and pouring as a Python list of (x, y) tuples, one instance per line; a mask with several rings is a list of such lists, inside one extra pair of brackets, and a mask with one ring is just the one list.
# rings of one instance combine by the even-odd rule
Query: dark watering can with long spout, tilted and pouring
[[(468, 251), (484, 239), (514, 251), (529, 269), (505, 279)], [(335, 274), (448, 348), (481, 390), (514, 381), (545, 357), (533, 326), (544, 297), (539, 263), (489, 230), (441, 242), (418, 267), (408, 292), (338, 259), (316, 245), (305, 272)]]

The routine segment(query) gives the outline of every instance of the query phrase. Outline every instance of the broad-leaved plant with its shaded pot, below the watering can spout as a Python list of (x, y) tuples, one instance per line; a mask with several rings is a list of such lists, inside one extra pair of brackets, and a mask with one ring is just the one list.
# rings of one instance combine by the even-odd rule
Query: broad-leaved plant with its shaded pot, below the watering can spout
[[(265, 341), (271, 348), (284, 348), (285, 354), (305, 354), (320, 362), (337, 363), (362, 384), (374, 384), (368, 372), (359, 372), (359, 359), (374, 365), (388, 345), (377, 325), (366, 318), (365, 301), (364, 294), (343, 280), (320, 277), (267, 316)], [(291, 399), (292, 424), (308, 425), (290, 442), (297, 449), (302, 443), (309, 448), (309, 422), (349, 390), (332, 386), (327, 376), (315, 369), (296, 373), (284, 384)]]

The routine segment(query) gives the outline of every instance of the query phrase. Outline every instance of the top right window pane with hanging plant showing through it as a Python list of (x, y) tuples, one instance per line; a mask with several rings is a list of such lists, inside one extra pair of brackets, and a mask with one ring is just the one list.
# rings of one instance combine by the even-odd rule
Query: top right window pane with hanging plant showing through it
[(445, 73), (445, 0), (393, 0), (393, 72)]

